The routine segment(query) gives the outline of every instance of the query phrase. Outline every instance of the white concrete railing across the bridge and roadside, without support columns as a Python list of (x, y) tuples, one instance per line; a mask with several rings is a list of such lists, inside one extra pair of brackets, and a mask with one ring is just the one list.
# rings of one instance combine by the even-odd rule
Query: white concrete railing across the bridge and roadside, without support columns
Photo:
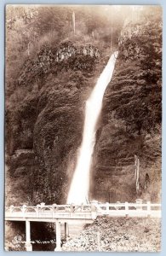
[(100, 215), (110, 216), (161, 216), (161, 204), (154, 204), (150, 201), (143, 203), (137, 200), (136, 203), (117, 202), (99, 203), (92, 201), (86, 205), (45, 205), (41, 203), (36, 207), (6, 207), (5, 218), (91, 218)]

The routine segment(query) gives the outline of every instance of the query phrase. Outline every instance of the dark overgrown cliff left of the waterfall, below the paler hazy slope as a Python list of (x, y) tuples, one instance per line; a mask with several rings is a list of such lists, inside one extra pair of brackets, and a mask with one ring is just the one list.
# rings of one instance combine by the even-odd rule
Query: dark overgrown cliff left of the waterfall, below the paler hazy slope
[[(92, 45), (66, 42), (43, 46), (26, 61), (14, 92), (19, 100), (11, 96), (7, 108), (7, 204), (66, 202), (82, 141), (84, 102), (106, 58)], [(17, 193), (22, 182), (23, 193)]]

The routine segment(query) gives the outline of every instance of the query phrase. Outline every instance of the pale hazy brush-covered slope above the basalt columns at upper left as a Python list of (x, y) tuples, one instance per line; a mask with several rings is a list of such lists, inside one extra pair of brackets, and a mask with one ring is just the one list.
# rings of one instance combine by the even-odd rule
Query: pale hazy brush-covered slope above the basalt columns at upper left
[[(126, 15), (128, 8), (125, 8)], [(110, 11), (112, 15), (110, 16)], [(76, 33), (73, 37), (72, 14), (75, 13)], [(106, 15), (102, 15), (105, 12)], [(63, 40), (77, 44), (100, 44), (103, 48), (117, 44), (118, 34), (123, 26), (120, 9), (104, 6), (7, 6), (6, 48), (7, 96), (17, 89), (20, 69), (27, 59), (34, 58), (43, 44), (50, 48)], [(109, 25), (113, 29), (109, 29)], [(112, 37), (111, 37), (112, 35)], [(21, 53), (21, 55), (20, 55)], [(23, 92), (22, 92), (23, 93)], [(21, 94), (21, 93), (20, 93)]]

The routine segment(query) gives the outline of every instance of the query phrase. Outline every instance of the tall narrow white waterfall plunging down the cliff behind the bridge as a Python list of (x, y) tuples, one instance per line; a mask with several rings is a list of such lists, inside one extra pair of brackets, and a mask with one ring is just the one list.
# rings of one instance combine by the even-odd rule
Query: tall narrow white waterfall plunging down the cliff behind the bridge
[(95, 143), (95, 126), (102, 108), (102, 99), (106, 86), (112, 79), (118, 52), (110, 57), (106, 67), (100, 74), (94, 90), (86, 102), (83, 128), (83, 141), (77, 157), (77, 166), (72, 178), (67, 203), (82, 204), (89, 201), (89, 171)]

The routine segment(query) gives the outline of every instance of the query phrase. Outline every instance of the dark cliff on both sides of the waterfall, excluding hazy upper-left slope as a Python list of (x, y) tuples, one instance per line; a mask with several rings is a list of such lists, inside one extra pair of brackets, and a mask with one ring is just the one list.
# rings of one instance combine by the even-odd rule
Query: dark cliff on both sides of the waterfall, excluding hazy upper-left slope
[[(123, 28), (97, 125), (91, 198), (159, 201), (161, 35), (161, 20)], [(7, 104), (7, 204), (66, 202), (82, 141), (84, 103), (107, 57), (93, 45), (64, 42), (52, 49), (44, 45), (26, 60)], [(137, 195), (135, 155), (140, 159)]]

